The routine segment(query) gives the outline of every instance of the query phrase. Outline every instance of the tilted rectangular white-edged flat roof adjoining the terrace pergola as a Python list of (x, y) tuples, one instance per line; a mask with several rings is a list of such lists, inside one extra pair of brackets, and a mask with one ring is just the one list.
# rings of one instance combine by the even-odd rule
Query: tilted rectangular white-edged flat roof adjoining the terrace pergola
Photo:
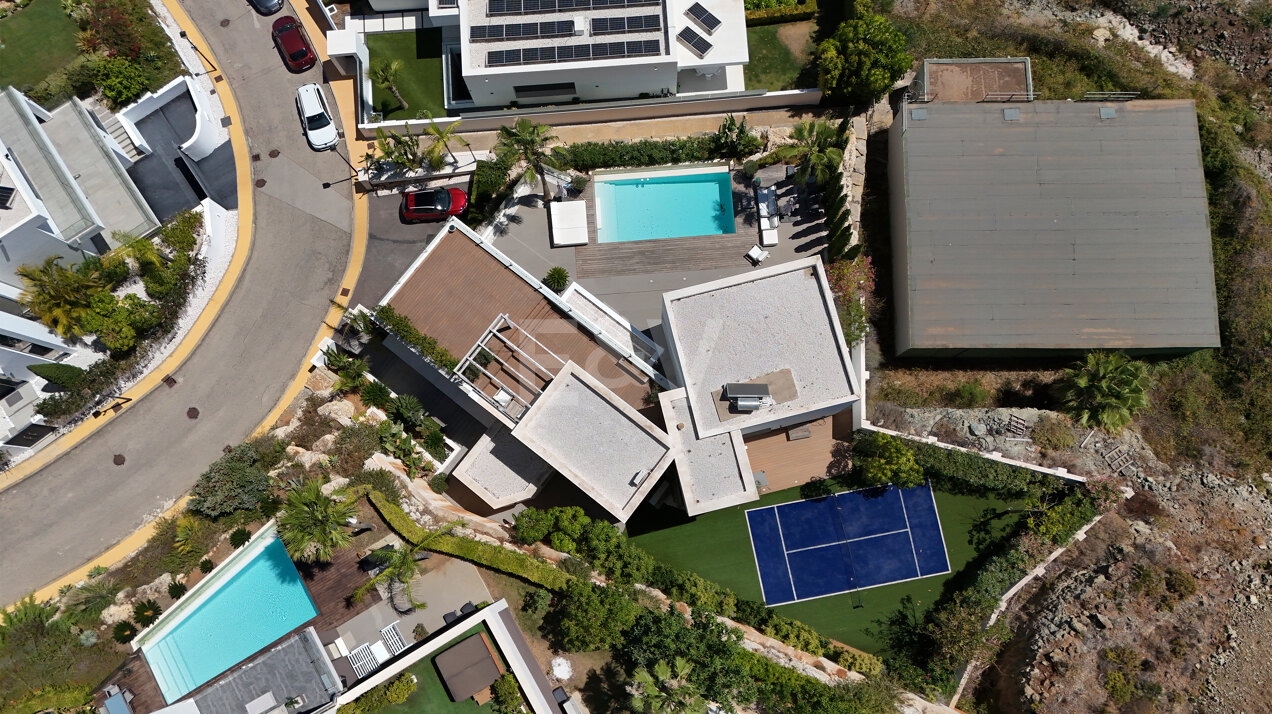
[(619, 521), (631, 517), (673, 456), (663, 430), (574, 363), (513, 435)]

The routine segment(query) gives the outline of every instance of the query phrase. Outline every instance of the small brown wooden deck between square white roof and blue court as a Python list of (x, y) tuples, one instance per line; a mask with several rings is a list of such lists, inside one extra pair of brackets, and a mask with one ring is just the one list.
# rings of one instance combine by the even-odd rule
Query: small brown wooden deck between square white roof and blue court
[(748, 437), (745, 443), (750, 470), (763, 471), (768, 480), (768, 485), (761, 486), (759, 493), (767, 494), (800, 486), (836, 472), (837, 468), (833, 468), (833, 465), (842, 462), (843, 456), (840, 454), (840, 449), (846, 448), (847, 444), (834, 439), (832, 421), (827, 416), (809, 423), (806, 426), (813, 434), (806, 439), (790, 440), (787, 438), (787, 433), (798, 426)]

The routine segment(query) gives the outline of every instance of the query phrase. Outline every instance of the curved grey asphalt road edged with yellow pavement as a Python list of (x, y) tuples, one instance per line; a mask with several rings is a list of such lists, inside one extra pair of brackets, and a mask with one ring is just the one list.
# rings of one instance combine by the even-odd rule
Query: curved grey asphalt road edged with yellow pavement
[[(0, 603), (123, 540), (190, 490), (224, 445), (247, 438), (308, 356), (349, 261), (351, 183), (322, 182), (350, 171), (333, 151), (308, 148), (293, 99), (300, 84), (322, 81), (322, 66), (286, 71), (270, 39), (281, 14), (261, 18), (240, 0), (182, 5), (233, 89), (249, 153), (261, 154), (252, 163), (252, 181), (266, 182), (252, 192), (252, 251), (216, 322), (173, 373), (176, 387), (154, 389), (0, 491)], [(197, 420), (186, 417), (192, 406)], [(117, 453), (123, 466), (112, 463)]]

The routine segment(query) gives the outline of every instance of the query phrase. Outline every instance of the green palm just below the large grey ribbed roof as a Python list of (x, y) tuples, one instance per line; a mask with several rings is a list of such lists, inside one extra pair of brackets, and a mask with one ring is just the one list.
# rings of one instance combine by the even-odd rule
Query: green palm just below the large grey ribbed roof
[(1118, 434), (1149, 406), (1149, 368), (1123, 353), (1088, 353), (1065, 370), (1058, 391), (1079, 424)]

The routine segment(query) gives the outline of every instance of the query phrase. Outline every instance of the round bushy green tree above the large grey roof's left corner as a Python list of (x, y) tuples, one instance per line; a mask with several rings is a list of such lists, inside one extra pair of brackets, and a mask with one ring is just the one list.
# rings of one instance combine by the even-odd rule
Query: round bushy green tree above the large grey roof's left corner
[(913, 61), (906, 37), (887, 18), (859, 11), (817, 46), (817, 84), (831, 99), (864, 107), (878, 102)]

